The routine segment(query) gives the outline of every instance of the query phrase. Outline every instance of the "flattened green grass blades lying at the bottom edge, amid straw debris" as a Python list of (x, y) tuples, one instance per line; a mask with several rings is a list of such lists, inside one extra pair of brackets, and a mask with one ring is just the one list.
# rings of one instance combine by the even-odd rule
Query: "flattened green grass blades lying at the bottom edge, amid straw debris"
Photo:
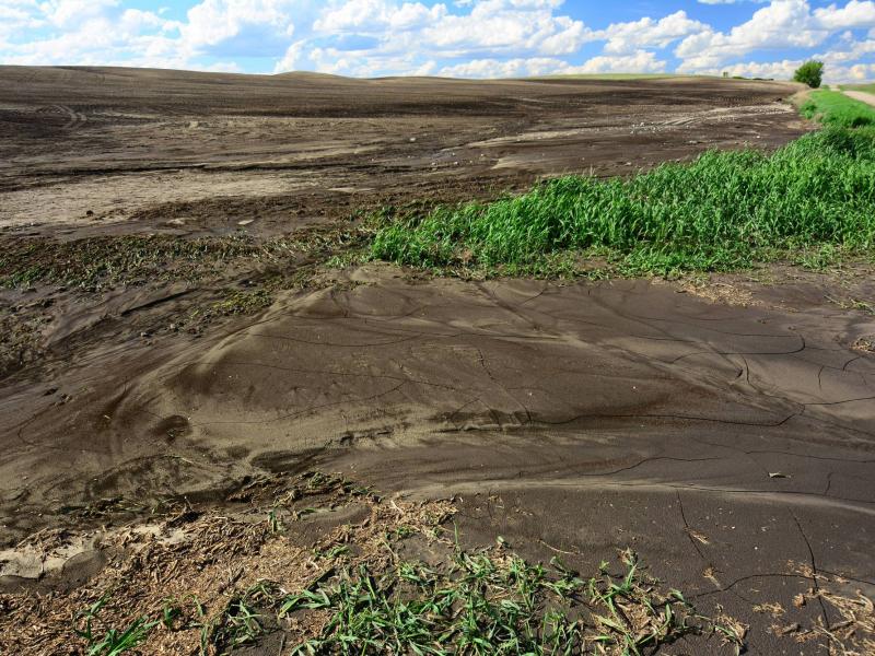
[[(559, 561), (532, 565), (503, 548), (456, 550), (444, 572), (402, 562), (376, 575), (345, 571), (335, 585), (291, 595), (279, 613), (320, 611), (317, 637), (293, 654), (640, 655), (690, 633), (718, 632), (676, 590), (661, 593), (631, 552), (626, 571), (581, 579)], [(728, 639), (736, 651), (740, 640)]]

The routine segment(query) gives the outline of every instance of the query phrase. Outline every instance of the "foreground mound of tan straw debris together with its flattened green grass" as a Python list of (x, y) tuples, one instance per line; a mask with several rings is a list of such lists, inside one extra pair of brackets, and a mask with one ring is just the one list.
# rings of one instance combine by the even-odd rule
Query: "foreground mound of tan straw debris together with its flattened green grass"
[(107, 564), (84, 585), (0, 596), (0, 651), (219, 655), (272, 637), (281, 654), (634, 655), (691, 634), (743, 647), (746, 628), (697, 612), (630, 550), (590, 578), (502, 539), (465, 550), (452, 502), (322, 473), (266, 477), (229, 501), (246, 512), (185, 505), (104, 534)]

